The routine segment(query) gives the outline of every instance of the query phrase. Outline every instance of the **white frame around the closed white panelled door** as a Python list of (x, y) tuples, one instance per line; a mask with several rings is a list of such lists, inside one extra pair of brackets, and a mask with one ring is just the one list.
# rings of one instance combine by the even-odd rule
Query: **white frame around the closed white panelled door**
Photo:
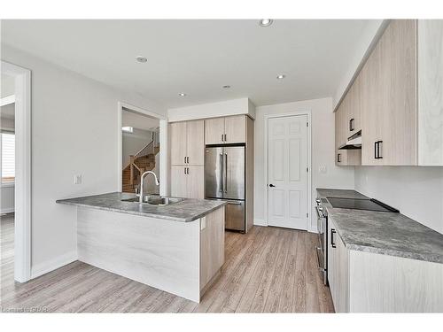
[(288, 113), (281, 113), (281, 114), (267, 114), (265, 115), (265, 159), (264, 159), (264, 167), (265, 170), (265, 188), (264, 188), (264, 194), (265, 194), (265, 211), (264, 211), (264, 221), (266, 223), (266, 226), (268, 226), (268, 121), (269, 119), (275, 119), (275, 118), (285, 118), (285, 117), (291, 117), (291, 116), (297, 116), (297, 115), (307, 115), (307, 123), (309, 124), (307, 126), (307, 213), (308, 213), (308, 225), (307, 230), (312, 231), (312, 216), (311, 216), (311, 198), (312, 198), (312, 188), (311, 188), (311, 174), (312, 174), (312, 167), (311, 167), (311, 110), (306, 111), (294, 111), (294, 112), (288, 112)]

